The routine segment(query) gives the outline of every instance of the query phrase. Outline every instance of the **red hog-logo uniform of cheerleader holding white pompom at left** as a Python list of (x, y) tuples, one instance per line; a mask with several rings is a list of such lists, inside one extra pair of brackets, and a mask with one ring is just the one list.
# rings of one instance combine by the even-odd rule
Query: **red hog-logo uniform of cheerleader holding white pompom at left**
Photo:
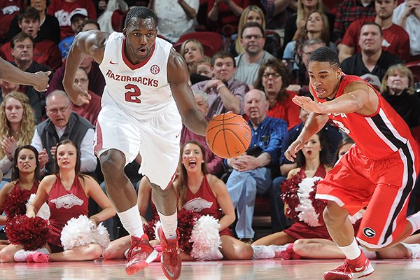
[(57, 175), (48, 198), (51, 216), (50, 235), (47, 240), (52, 253), (64, 251), (60, 240), (62, 229), (71, 218), (78, 218), (80, 215), (87, 216), (88, 200), (78, 176), (75, 177), (70, 190), (66, 190)]

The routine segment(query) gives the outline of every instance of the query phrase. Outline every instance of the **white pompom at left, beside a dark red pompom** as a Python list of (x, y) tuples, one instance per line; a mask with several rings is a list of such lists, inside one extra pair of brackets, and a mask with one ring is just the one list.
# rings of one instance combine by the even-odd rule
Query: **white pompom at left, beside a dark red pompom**
[(87, 244), (99, 244), (106, 248), (109, 244), (109, 233), (104, 225), (97, 227), (85, 215), (71, 218), (62, 230), (61, 241), (64, 250)]

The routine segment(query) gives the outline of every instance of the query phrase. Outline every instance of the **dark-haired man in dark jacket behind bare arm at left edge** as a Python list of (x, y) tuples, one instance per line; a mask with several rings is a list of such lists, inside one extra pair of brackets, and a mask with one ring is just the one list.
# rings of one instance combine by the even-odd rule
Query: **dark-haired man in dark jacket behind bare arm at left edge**
[[(20, 32), (10, 42), (15, 66), (28, 73), (38, 71), (50, 71), (50, 67), (34, 62), (34, 39), (24, 32)], [(39, 123), (43, 116), (45, 94), (38, 92), (32, 86), (21, 86), (20, 91), (25, 92), (29, 98), (29, 104), (35, 112), (35, 123)]]

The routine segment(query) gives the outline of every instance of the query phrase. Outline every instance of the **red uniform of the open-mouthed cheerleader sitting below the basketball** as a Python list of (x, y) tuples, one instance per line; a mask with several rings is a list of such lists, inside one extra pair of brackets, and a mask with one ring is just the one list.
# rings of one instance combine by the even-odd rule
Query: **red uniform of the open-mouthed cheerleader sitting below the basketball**
[[(202, 216), (211, 215), (219, 221), (222, 218), (221, 207), (219, 206), (216, 197), (214, 196), (213, 191), (207, 181), (207, 176), (204, 176), (200, 188), (197, 190), (197, 193), (192, 193), (189, 188), (186, 192), (186, 203), (183, 206), (183, 209), (194, 211)], [(219, 234), (229, 235), (233, 237), (232, 232), (229, 228), (221, 230)]]

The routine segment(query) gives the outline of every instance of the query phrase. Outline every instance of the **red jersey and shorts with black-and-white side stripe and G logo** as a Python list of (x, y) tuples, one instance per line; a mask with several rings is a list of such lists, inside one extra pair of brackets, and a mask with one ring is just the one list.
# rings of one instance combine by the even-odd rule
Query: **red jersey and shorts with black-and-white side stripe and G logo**
[[(365, 83), (358, 76), (342, 76), (335, 99), (347, 85)], [(311, 85), (310, 85), (311, 86)], [(312, 92), (314, 88), (311, 86)], [(370, 116), (328, 113), (340, 130), (356, 142), (325, 179), (316, 198), (336, 202), (350, 215), (367, 207), (358, 241), (370, 248), (391, 244), (405, 230), (409, 194), (420, 170), (416, 141), (404, 120), (376, 90), (378, 108)], [(318, 102), (326, 102), (318, 99)]]

